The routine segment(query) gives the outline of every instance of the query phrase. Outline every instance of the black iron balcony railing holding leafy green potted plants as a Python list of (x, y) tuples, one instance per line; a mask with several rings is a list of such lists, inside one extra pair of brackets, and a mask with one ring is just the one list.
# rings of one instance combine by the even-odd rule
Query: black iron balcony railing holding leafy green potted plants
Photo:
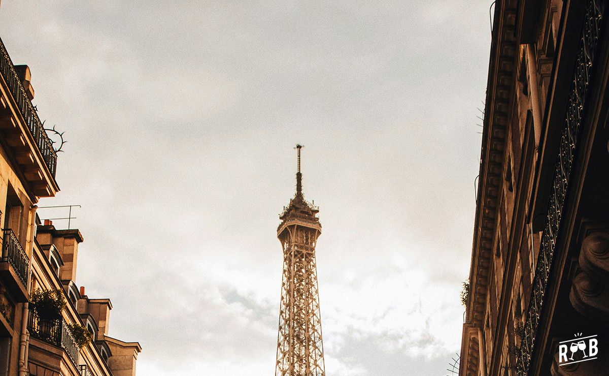
[(27, 330), (29, 330), (30, 336), (61, 347), (76, 366), (80, 349), (63, 318), (42, 319), (35, 311), (30, 311)]

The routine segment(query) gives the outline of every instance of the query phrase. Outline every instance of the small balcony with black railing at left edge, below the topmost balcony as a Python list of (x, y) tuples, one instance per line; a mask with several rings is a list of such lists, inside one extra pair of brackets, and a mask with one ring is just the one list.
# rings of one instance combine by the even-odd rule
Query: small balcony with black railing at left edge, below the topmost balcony
[(0, 258), (0, 278), (12, 293), (16, 302), (27, 302), (27, 278), (30, 260), (19, 239), (11, 229), (2, 230), (2, 257)]

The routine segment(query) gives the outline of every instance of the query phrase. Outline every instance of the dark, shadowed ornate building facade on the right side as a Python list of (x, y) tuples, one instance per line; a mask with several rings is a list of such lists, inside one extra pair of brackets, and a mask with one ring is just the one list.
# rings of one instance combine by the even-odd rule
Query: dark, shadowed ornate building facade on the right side
[(609, 371), (607, 1), (496, 1), (460, 375)]

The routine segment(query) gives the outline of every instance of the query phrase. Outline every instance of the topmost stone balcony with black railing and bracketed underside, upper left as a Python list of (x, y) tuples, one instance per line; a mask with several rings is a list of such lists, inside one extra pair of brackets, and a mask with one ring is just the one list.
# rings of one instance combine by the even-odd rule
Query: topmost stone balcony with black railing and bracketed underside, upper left
[[(54, 196), (57, 153), (0, 40), (0, 130), (36, 196)], [(30, 94), (33, 95), (33, 94)]]

